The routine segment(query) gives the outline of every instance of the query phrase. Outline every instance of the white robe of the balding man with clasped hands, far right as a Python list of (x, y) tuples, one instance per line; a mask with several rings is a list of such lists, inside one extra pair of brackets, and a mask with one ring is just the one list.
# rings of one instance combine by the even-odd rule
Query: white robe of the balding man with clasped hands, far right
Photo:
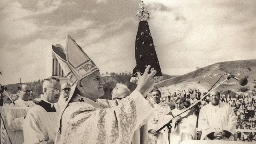
[(231, 133), (229, 139), (223, 137), (221, 140), (234, 140), (235, 128), (236, 115), (228, 103), (220, 101), (216, 106), (209, 103), (201, 108), (198, 118), (198, 131), (202, 131), (201, 140), (209, 139), (208, 134), (220, 131)]

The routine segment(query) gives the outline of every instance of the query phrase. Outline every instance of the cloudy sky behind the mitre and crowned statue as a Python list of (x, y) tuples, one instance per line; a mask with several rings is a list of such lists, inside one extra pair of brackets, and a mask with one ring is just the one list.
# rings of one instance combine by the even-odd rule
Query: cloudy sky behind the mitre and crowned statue
[[(71, 35), (100, 73), (132, 72), (139, 0), (1, 0), (0, 84), (51, 75), (52, 44)], [(144, 0), (162, 73), (256, 59), (255, 0)], [(235, 66), (234, 66), (235, 67)]]

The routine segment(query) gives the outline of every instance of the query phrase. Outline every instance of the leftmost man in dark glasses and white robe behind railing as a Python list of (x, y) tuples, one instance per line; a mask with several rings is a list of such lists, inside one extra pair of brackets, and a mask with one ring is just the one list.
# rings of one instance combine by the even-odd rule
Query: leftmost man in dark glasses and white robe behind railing
[[(30, 99), (30, 86), (28, 84), (19, 84), (18, 86), (19, 98), (10, 104), (10, 107), (33, 107), (36, 105)], [(24, 142), (23, 137), (23, 123), (27, 115), (28, 109), (6, 109), (6, 120), (8, 126), (8, 135), (12, 144), (19, 144)]]

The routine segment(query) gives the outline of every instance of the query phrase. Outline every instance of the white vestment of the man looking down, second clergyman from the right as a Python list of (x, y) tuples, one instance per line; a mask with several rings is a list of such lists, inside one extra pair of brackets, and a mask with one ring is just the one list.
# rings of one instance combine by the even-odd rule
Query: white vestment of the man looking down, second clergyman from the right
[[(177, 116), (178, 114), (184, 112), (185, 110), (186, 110), (185, 107), (181, 110), (175, 108), (172, 110), (172, 115)], [(170, 144), (179, 144), (186, 139), (196, 140), (197, 117), (195, 114), (187, 116), (189, 111), (190, 110), (180, 115), (182, 120), (178, 124), (175, 124), (175, 119), (172, 121), (171, 123), (172, 129), (170, 133)]]

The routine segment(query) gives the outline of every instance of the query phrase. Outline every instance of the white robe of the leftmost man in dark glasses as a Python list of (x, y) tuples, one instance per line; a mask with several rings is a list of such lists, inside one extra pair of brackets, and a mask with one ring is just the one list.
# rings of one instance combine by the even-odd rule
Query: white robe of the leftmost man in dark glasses
[[(32, 101), (24, 101), (21, 98), (10, 104), (10, 107), (33, 107), (36, 105)], [(23, 121), (27, 115), (28, 109), (6, 109), (7, 126), (11, 130), (8, 135), (12, 144), (24, 142)]]

